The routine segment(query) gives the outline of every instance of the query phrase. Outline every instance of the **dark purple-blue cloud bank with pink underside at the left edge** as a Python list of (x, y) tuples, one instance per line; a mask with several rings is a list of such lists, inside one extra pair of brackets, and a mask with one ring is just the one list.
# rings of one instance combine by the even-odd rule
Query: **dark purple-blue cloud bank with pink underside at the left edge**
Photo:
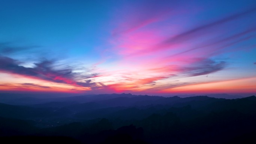
[[(40, 63), (34, 63), (34, 67), (24, 67), (20, 64), (21, 62), (15, 59), (0, 56), (1, 72), (19, 74), (55, 83), (65, 83), (84, 87), (96, 86), (96, 83), (88, 80), (88, 78), (95, 77), (95, 74), (82, 75), (80, 73), (73, 73), (70, 68), (57, 69), (55, 68), (54, 61), (45, 60)], [(77, 82), (75, 80), (76, 78), (84, 78), (85, 80)]]

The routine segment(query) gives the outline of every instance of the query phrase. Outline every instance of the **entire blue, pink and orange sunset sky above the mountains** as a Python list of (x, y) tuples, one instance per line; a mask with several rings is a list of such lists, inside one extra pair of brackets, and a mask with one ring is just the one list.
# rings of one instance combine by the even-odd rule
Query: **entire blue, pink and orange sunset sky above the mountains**
[(256, 1), (1, 0), (0, 92), (256, 94)]

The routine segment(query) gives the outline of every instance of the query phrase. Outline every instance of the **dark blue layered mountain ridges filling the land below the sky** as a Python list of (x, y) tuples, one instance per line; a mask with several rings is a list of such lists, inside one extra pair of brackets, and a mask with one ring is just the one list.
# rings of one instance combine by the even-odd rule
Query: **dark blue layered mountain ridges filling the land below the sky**
[(256, 143), (255, 96), (112, 94), (0, 102), (0, 137), (10, 143)]

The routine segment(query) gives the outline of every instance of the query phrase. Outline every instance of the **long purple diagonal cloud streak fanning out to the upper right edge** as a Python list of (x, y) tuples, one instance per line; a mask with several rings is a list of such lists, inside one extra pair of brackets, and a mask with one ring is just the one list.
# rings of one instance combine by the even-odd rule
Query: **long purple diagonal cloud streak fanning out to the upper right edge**
[[(229, 36), (231, 32), (229, 31), (237, 31), (240, 27), (239, 22), (237, 21), (244, 21), (244, 17), (247, 15), (251, 15), (252, 13), (256, 12), (256, 8), (252, 8), (249, 10), (245, 10), (244, 12), (236, 13), (230, 16), (227, 16), (225, 18), (219, 19), (217, 21), (210, 22), (208, 24), (199, 25), (198, 27), (194, 27), (191, 30), (185, 31), (183, 33), (177, 34), (177, 35), (171, 35), (170, 37), (162, 38), (162, 41), (159, 41), (159, 43), (147, 47), (146, 49), (138, 50), (137, 52), (132, 53), (132, 55), (140, 55), (141, 53), (154, 53), (159, 52), (162, 50), (177, 50), (180, 46), (185, 44), (185, 48), (182, 48), (184, 52), (189, 52), (192, 50), (196, 50), (198, 48), (205, 49), (208, 48), (209, 53), (211, 53), (211, 50), (220, 49), (219, 47), (228, 48), (229, 45), (226, 45), (225, 47), (222, 46), (222, 44), (228, 44), (228, 43), (239, 43), (241, 42), (240, 38), (243, 36), (246, 36), (250, 33), (255, 32), (255, 27), (249, 28), (248, 30), (244, 30), (238, 33), (234, 33), (233, 35)], [(232, 22), (232, 25), (230, 27), (227, 27), (225, 24)], [(226, 30), (223, 30), (223, 28), (226, 27)], [(218, 31), (218, 33), (216, 33)], [(232, 34), (232, 33), (231, 33)], [(222, 38), (224, 36), (228, 36), (226, 38)], [(214, 38), (211, 38), (213, 37)], [(255, 36), (254, 36), (255, 37)], [(205, 38), (211, 38), (210, 40), (205, 40)], [(253, 37), (250, 37), (252, 39)], [(193, 42), (193, 41), (194, 42)], [(198, 41), (201, 40), (200, 43)], [(196, 43), (197, 48), (188, 49), (186, 47), (191, 47), (193, 43)], [(182, 44), (182, 45), (181, 45)], [(198, 45), (202, 45), (199, 46)], [(195, 47), (195, 46), (193, 46)], [(204, 51), (204, 50), (203, 50)]]

